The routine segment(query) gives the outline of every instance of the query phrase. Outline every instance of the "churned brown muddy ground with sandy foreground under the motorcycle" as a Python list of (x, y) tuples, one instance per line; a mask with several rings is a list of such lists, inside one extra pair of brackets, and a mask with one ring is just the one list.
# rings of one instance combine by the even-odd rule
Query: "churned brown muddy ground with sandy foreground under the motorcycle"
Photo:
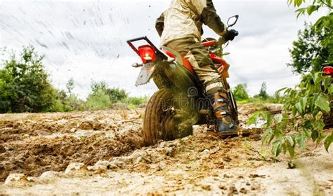
[[(242, 123), (255, 109), (240, 106)], [(0, 195), (333, 195), (332, 147), (312, 144), (287, 169), (260, 129), (223, 140), (195, 126), (144, 147), (142, 118), (143, 109), (0, 115)]]

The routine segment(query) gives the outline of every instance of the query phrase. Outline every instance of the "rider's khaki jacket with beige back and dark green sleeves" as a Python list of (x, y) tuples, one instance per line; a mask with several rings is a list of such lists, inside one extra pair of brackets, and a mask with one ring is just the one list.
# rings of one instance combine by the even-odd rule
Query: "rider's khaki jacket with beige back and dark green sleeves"
[(203, 24), (219, 36), (226, 33), (212, 0), (172, 0), (155, 27), (161, 36), (161, 45), (166, 45), (179, 38), (194, 37), (201, 41)]

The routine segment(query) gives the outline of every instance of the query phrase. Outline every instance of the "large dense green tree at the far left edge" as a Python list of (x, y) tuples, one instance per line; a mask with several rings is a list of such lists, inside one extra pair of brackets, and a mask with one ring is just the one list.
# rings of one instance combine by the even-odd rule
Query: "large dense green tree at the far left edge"
[(29, 45), (20, 58), (11, 56), (0, 70), (0, 112), (52, 111), (57, 90), (44, 71), (43, 56)]

